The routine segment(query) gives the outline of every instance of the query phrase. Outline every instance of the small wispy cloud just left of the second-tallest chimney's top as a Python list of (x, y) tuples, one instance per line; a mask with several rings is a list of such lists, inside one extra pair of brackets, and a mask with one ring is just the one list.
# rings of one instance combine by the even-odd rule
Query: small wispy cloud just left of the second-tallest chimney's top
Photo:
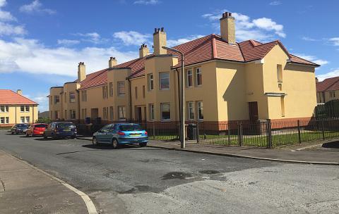
[(143, 43), (148, 43), (149, 39), (152, 37), (151, 34), (142, 34), (136, 31), (120, 31), (115, 32), (113, 37), (116, 39), (121, 39), (125, 45), (141, 45)]

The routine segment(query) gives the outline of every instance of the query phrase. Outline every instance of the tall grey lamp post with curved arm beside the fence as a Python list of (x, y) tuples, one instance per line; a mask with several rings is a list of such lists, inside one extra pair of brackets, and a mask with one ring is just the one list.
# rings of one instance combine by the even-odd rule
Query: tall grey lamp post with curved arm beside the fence
[(182, 56), (182, 82), (180, 84), (181, 97), (180, 97), (180, 147), (185, 149), (185, 92), (184, 92), (184, 53), (177, 49), (172, 49), (167, 46), (162, 46), (163, 49), (179, 53)]

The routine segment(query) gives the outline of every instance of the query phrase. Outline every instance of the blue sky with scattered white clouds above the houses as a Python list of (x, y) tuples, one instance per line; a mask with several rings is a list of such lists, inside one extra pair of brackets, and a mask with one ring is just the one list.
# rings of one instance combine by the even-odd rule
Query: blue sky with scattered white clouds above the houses
[[(324, 3), (326, 2), (326, 3)], [(165, 27), (174, 46), (220, 34), (225, 11), (237, 20), (237, 41), (280, 39), (290, 53), (321, 64), (322, 80), (339, 75), (338, 1), (47, 1), (0, 0), (0, 88), (23, 94), (48, 109), (49, 87), (138, 56), (151, 46), (155, 27)]]

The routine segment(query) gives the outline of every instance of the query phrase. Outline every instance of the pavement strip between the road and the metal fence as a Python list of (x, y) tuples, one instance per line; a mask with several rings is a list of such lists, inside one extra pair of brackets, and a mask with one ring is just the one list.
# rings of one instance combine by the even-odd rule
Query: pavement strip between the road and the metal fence
[[(78, 139), (91, 141), (92, 137), (78, 137)], [(339, 144), (339, 142), (338, 142)], [(263, 147), (249, 146), (223, 146), (218, 144), (196, 144), (195, 142), (187, 142), (185, 149), (180, 149), (178, 141), (153, 141), (148, 142), (148, 146), (161, 149), (174, 149), (177, 151), (189, 151), (196, 153), (206, 153), (218, 156), (233, 156), (240, 158), (254, 158), (260, 160), (274, 160), (291, 163), (314, 163), (339, 165), (339, 151), (324, 153), (324, 151), (311, 151), (301, 149), (310, 145), (319, 146), (319, 142), (313, 144), (303, 144), (288, 146), (278, 149), (266, 149)]]

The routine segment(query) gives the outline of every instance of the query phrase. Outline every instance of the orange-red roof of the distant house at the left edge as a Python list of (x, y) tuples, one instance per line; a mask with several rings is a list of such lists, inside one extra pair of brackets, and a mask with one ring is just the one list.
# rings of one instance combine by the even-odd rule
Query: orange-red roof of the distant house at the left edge
[(35, 101), (31, 101), (30, 99), (17, 94), (8, 89), (0, 89), (0, 104), (6, 105), (16, 105), (16, 104), (25, 104), (25, 105), (37, 105)]

